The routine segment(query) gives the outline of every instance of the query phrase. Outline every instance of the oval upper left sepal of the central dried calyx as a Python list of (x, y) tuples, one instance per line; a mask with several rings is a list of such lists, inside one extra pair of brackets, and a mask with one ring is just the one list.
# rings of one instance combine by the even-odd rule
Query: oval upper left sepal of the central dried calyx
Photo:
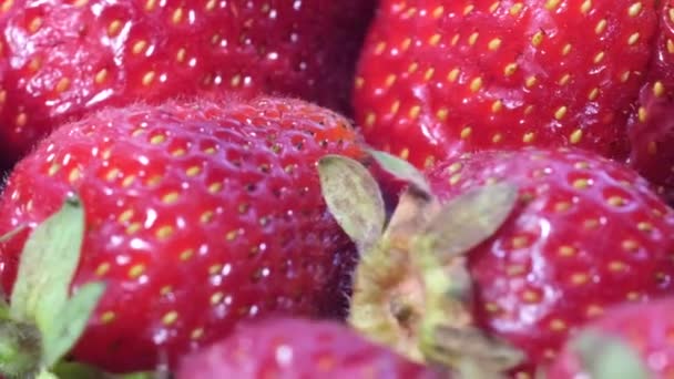
[(358, 161), (326, 155), (318, 162), (318, 175), (328, 209), (361, 252), (381, 237), (386, 209), (379, 185)]

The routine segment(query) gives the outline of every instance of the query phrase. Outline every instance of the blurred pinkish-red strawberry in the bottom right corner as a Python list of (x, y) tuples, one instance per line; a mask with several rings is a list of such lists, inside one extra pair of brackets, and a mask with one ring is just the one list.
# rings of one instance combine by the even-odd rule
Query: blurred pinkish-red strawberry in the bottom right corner
[[(589, 378), (588, 370), (592, 369), (593, 365), (605, 362), (620, 369), (621, 362), (615, 361), (615, 358), (623, 358), (622, 363), (624, 365), (624, 354), (613, 352), (613, 357), (607, 356), (609, 349), (615, 351), (616, 342), (631, 348), (630, 350), (622, 348), (622, 350), (633, 354), (632, 359), (637, 359), (635, 362), (631, 362), (631, 366), (641, 363), (639, 366), (647, 375), (641, 376), (641, 378), (672, 378), (674, 376), (673, 311), (674, 301), (672, 299), (657, 300), (647, 305), (624, 305), (607, 311), (602, 318), (590, 324), (581, 335), (585, 338), (594, 338), (600, 342), (598, 345), (585, 344), (589, 348), (594, 347), (594, 351), (584, 349), (582, 337), (572, 339), (554, 360), (545, 378)], [(602, 357), (602, 354), (606, 356)], [(613, 358), (613, 361), (602, 361), (600, 360), (602, 358)], [(622, 372), (615, 372), (613, 378), (635, 378), (624, 369)]]

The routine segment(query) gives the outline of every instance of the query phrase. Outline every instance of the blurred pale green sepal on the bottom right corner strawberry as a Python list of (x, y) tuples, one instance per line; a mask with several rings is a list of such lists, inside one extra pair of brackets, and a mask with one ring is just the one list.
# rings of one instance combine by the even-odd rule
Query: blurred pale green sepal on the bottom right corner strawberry
[(571, 342), (592, 379), (649, 379), (639, 351), (622, 339), (594, 330), (581, 332)]

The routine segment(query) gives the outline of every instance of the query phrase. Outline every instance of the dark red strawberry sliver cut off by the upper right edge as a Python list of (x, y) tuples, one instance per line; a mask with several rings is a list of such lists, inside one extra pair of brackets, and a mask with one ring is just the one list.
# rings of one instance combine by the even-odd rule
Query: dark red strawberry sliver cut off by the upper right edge
[(674, 204), (674, 1), (662, 1), (655, 53), (630, 122), (631, 165)]

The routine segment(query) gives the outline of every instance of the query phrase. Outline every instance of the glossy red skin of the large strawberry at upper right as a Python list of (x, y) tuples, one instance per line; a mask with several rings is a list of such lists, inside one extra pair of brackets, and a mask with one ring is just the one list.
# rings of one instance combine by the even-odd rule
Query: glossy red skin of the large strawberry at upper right
[[(522, 8), (512, 16), (515, 3)], [(585, 0), (561, 0), (553, 10), (548, 3), (382, 1), (354, 94), (356, 121), (368, 142), (420, 167), (466, 152), (524, 145), (576, 145), (626, 157), (625, 125), (652, 55), (655, 1), (640, 1), (635, 17), (629, 16), (633, 0), (594, 0), (586, 16)], [(547, 37), (537, 45), (539, 31)], [(473, 32), (479, 37), (471, 44)], [(639, 40), (629, 44), (636, 32)], [(500, 45), (490, 50), (497, 38)], [(599, 52), (603, 59), (594, 62)], [(508, 74), (511, 63), (517, 70)], [(455, 69), (458, 74), (450, 78)], [(528, 85), (532, 75), (537, 81)], [(482, 83), (473, 91), (478, 78)], [(599, 93), (590, 99), (595, 88)]]

